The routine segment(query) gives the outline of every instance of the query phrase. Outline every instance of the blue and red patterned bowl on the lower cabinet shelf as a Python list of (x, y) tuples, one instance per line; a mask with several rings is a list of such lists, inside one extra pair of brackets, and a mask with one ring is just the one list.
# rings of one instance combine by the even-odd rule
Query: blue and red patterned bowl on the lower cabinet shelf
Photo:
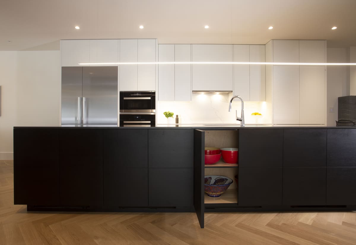
[(209, 197), (220, 197), (227, 188), (231, 185), (232, 181), (229, 177), (221, 175), (205, 175), (204, 176), (204, 192)]

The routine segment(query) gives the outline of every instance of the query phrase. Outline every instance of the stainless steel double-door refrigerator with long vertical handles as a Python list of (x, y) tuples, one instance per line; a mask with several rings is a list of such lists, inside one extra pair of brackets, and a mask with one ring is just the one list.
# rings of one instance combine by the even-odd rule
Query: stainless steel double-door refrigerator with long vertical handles
[(62, 125), (117, 126), (117, 66), (62, 67)]

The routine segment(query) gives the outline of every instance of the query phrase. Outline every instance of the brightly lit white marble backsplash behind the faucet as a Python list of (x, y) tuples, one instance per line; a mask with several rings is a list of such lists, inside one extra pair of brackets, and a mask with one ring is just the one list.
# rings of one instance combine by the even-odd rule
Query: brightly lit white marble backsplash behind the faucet
[[(178, 114), (179, 123), (236, 123), (235, 110), (241, 115), (241, 102), (239, 99), (232, 102), (232, 111), (228, 112), (229, 101), (232, 94), (192, 94), (192, 101), (159, 101), (156, 106), (157, 123), (167, 123), (163, 115), (165, 111)], [(243, 99), (243, 98), (242, 98)], [(271, 113), (268, 112), (267, 102), (244, 102), (245, 124), (271, 124)], [(259, 112), (262, 116), (252, 116)]]

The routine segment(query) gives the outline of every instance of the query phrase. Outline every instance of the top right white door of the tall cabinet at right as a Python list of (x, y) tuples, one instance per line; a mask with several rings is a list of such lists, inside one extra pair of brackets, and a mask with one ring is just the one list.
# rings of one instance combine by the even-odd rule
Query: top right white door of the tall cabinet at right
[(299, 40), (299, 62), (325, 63), (325, 40)]

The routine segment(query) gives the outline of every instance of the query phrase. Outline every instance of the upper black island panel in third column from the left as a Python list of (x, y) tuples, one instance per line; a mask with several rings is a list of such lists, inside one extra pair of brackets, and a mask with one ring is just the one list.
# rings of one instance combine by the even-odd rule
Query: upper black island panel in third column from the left
[(104, 166), (148, 167), (147, 129), (104, 129)]

